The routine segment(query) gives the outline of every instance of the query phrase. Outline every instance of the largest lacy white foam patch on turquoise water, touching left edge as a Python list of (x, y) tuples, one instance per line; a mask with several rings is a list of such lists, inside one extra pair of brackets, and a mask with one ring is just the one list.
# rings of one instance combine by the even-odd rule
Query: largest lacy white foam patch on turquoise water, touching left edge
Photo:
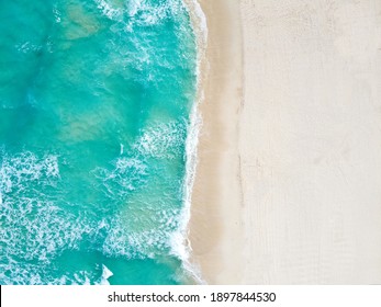
[[(0, 164), (1, 243), (5, 254), (48, 263), (65, 249), (76, 249), (85, 234), (93, 227), (85, 217), (77, 218), (55, 205), (44, 194), (56, 189), (59, 180), (58, 157), (24, 151), (13, 156), (3, 152)], [(36, 191), (38, 183), (43, 189)]]

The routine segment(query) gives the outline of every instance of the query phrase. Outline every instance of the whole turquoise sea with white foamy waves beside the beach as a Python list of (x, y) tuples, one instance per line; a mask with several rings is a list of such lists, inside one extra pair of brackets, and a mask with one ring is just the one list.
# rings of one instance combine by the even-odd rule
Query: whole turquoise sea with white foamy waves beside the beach
[(181, 0), (0, 1), (0, 284), (189, 282)]

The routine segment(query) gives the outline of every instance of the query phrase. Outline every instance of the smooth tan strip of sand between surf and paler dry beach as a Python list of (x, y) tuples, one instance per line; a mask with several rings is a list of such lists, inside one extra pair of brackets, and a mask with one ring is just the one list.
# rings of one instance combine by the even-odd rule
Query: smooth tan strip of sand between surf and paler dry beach
[[(197, 107), (202, 126), (191, 193), (190, 263), (208, 284), (239, 284), (244, 263), (244, 255), (236, 252), (244, 243), (238, 155), (243, 92), (239, 5), (229, 0), (198, 2), (206, 16), (209, 35), (199, 71)], [(229, 265), (232, 262), (236, 264)]]

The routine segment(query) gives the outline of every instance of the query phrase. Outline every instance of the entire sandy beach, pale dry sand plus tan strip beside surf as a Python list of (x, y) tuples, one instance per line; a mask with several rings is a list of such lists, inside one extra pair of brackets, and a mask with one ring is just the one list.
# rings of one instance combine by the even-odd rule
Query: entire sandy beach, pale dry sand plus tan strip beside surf
[(202, 277), (380, 284), (381, 2), (200, 4), (190, 240)]

